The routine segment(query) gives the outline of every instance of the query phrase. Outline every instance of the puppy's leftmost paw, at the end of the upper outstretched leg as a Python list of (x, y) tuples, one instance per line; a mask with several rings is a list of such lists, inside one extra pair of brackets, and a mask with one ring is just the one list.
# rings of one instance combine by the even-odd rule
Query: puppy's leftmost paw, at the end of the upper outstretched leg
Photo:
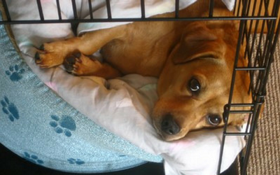
[(58, 42), (41, 45), (35, 54), (35, 62), (43, 69), (58, 66), (63, 63), (66, 52)]

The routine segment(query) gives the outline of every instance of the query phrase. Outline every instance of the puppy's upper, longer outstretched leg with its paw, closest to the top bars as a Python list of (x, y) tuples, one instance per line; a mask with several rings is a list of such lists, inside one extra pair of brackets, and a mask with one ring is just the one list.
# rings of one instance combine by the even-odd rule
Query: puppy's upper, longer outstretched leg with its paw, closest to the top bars
[(125, 35), (125, 25), (110, 29), (101, 29), (87, 32), (83, 36), (69, 38), (64, 41), (44, 43), (36, 52), (35, 61), (41, 68), (50, 68), (64, 62), (67, 56), (74, 52), (81, 52), (84, 55), (92, 55), (106, 43)]

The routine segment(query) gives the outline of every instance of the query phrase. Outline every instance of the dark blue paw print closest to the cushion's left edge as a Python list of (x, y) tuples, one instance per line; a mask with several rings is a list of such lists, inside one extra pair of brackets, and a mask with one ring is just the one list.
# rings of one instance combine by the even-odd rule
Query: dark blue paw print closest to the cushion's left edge
[(20, 116), (18, 115), (18, 109), (15, 104), (10, 103), (8, 97), (4, 96), (4, 99), (1, 100), (2, 111), (7, 114), (10, 121), (14, 121), (15, 119), (19, 119)]

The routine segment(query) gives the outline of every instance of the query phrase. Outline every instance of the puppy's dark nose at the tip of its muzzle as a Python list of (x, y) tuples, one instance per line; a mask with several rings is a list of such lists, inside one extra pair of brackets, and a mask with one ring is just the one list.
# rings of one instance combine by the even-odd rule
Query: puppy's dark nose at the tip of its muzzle
[(169, 135), (177, 134), (181, 130), (170, 114), (163, 118), (161, 127), (162, 131)]

